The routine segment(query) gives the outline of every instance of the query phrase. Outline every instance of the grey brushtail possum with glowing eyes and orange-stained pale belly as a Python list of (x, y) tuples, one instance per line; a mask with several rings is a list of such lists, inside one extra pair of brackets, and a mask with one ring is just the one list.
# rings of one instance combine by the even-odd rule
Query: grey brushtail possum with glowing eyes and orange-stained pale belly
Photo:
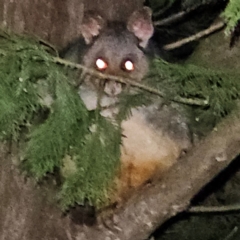
[[(148, 71), (145, 49), (153, 34), (151, 10), (134, 11), (127, 22), (103, 19), (96, 12), (86, 13), (82, 37), (63, 52), (63, 57), (99, 72), (141, 81)], [(124, 85), (112, 80), (87, 80), (80, 96), (88, 109), (91, 92), (102, 89), (108, 99), (117, 98)], [(190, 146), (186, 119), (177, 107), (158, 102), (132, 110), (130, 119), (122, 123), (121, 167), (116, 178), (117, 193), (127, 196), (154, 176), (159, 176)]]

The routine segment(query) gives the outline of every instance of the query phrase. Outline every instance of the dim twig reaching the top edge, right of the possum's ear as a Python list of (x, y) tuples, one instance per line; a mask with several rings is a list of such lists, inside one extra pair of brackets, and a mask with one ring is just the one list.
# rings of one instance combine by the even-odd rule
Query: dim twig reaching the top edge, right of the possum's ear
[[(201, 6), (204, 6), (204, 5), (208, 5), (209, 3), (210, 3), (210, 1), (200, 3), (200, 4), (196, 4), (193, 7), (188, 8), (186, 10), (183, 10), (179, 13), (176, 13), (176, 14), (170, 16), (170, 17), (164, 18), (164, 19), (159, 20), (159, 21), (155, 21), (155, 22), (153, 22), (153, 25), (158, 27), (158, 26), (167, 25), (169, 23), (173, 23), (173, 22), (183, 18), (185, 15), (189, 14), (190, 12), (196, 10), (197, 8), (199, 8)], [(154, 14), (154, 15), (156, 15), (156, 14)]]

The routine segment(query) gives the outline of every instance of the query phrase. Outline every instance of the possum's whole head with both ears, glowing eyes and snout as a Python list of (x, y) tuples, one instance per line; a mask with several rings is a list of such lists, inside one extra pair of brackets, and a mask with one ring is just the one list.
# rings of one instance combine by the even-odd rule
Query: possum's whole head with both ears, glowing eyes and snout
[[(151, 10), (147, 7), (132, 13), (126, 23), (107, 22), (96, 13), (85, 15), (82, 35), (89, 45), (82, 64), (109, 75), (140, 81), (148, 70), (142, 51), (153, 34)], [(121, 93), (123, 84), (110, 79), (91, 80), (108, 96)]]

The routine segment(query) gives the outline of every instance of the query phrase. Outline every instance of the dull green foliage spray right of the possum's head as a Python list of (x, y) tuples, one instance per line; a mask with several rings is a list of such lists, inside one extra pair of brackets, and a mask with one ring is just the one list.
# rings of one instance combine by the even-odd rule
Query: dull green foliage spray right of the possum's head
[[(211, 129), (236, 107), (240, 81), (238, 72), (216, 71), (190, 64), (169, 64), (161, 59), (153, 62), (147, 79), (149, 85), (163, 92), (165, 99), (177, 97), (203, 100), (208, 104), (190, 106), (193, 127)], [(185, 106), (187, 107), (187, 106)], [(201, 131), (202, 129), (198, 129)], [(197, 129), (196, 129), (197, 131)]]

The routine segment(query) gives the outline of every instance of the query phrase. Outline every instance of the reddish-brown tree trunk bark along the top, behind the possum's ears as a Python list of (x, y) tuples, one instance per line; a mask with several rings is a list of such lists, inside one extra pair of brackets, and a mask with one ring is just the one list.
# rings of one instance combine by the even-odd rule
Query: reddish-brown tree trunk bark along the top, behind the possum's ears
[(0, 0), (0, 26), (27, 33), (57, 49), (80, 36), (83, 12), (99, 11), (109, 20), (125, 21), (143, 0)]

